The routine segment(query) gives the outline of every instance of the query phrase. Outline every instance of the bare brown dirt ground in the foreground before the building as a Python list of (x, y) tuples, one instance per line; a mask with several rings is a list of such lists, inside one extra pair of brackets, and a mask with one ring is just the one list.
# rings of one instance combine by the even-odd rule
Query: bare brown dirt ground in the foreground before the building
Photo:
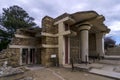
[[(15, 79), (18, 77), (19, 79)], [(37, 68), (25, 72), (24, 74), (14, 75), (11, 77), (0, 78), (0, 80), (31, 80), (20, 79), (22, 77), (30, 77), (32, 80), (115, 80), (84, 71), (71, 71), (66, 68)]]

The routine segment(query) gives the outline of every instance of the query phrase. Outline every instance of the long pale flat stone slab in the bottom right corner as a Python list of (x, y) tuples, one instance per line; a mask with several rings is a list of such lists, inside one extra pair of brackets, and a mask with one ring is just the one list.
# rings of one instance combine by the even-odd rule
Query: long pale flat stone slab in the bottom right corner
[(115, 79), (120, 79), (120, 73), (113, 72), (113, 71), (105, 71), (105, 70), (101, 70), (101, 69), (91, 69), (89, 72), (98, 74), (98, 75), (102, 75), (102, 76), (115, 78)]

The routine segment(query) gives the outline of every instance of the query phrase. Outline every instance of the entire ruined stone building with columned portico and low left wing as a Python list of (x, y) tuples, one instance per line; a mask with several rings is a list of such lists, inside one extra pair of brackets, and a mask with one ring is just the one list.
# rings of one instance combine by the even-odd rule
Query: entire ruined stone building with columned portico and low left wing
[(19, 29), (9, 44), (12, 62), (17, 65), (89, 62), (90, 56), (103, 57), (104, 36), (110, 29), (105, 18), (95, 11), (64, 13), (57, 18), (45, 16), (40, 29)]

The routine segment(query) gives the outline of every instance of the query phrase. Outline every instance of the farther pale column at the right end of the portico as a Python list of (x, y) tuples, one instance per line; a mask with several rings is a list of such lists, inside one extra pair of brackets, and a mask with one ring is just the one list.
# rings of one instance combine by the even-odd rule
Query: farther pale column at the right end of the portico
[(97, 53), (100, 57), (105, 55), (104, 52), (104, 33), (97, 33), (96, 34), (96, 49)]

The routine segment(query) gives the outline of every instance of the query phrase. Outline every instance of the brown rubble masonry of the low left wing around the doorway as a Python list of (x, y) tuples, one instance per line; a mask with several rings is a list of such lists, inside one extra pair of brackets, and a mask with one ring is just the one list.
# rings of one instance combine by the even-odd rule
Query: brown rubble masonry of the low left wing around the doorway
[(27, 32), (24, 30), (17, 30), (16, 34), (23, 35), (23, 36), (29, 36), (30, 38), (22, 38), (22, 37), (13, 37), (12, 41), (10, 42), (7, 49), (3, 50), (1, 52), (2, 55), (0, 55), (1, 61), (8, 61), (8, 65), (11, 66), (19, 66), (20, 65), (20, 50), (21, 48), (17, 47), (10, 47), (12, 45), (15, 46), (33, 46), (37, 49), (37, 63), (40, 63), (40, 57), (41, 57), (41, 49), (38, 48), (41, 46), (41, 38), (36, 38), (35, 33)]

